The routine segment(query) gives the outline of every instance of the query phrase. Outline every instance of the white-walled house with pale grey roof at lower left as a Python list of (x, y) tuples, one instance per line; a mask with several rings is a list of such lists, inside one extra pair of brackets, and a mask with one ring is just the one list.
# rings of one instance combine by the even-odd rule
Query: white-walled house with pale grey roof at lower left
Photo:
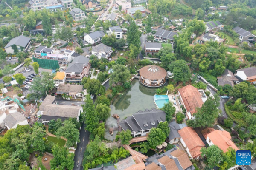
[(28, 125), (28, 121), (25, 116), (20, 112), (9, 113), (3, 122), (8, 130), (16, 129), (17, 125)]

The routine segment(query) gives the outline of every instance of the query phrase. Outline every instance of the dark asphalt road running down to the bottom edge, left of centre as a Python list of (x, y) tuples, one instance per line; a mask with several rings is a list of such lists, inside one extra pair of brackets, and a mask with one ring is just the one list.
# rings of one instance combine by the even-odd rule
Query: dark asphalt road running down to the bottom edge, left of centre
[(89, 143), (89, 135), (90, 133), (87, 130), (84, 130), (85, 124), (83, 123), (81, 130), (80, 130), (80, 142), (77, 144), (76, 151), (75, 151), (75, 165), (73, 170), (83, 170), (81, 166), (83, 163), (84, 158), (84, 151), (86, 149), (87, 144)]

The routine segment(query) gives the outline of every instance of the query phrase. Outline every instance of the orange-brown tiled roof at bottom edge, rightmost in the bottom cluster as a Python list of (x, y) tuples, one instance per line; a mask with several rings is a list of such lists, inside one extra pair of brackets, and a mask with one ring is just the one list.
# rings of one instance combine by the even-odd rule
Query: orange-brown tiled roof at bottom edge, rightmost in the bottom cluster
[(189, 157), (182, 150), (177, 149), (175, 151), (172, 151), (171, 155), (178, 159), (178, 161), (180, 162), (180, 166), (183, 168), (183, 170), (192, 165), (192, 162), (189, 160)]

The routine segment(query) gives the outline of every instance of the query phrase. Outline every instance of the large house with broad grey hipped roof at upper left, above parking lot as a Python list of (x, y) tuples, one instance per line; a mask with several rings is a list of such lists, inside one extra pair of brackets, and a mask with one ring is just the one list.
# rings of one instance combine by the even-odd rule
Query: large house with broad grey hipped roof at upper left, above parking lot
[(18, 51), (24, 51), (25, 53), (29, 51), (31, 47), (31, 38), (20, 35), (18, 37), (12, 38), (11, 41), (4, 47), (6, 53), (14, 54), (14, 45), (17, 46)]

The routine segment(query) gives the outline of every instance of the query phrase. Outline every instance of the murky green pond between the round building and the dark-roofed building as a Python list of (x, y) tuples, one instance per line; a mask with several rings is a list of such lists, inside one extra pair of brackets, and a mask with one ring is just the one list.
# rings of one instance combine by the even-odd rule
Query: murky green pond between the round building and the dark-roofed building
[[(118, 96), (110, 106), (111, 115), (118, 114), (120, 121), (139, 110), (144, 111), (145, 109), (156, 108), (153, 99), (156, 88), (145, 87), (140, 84), (138, 79), (134, 79), (131, 85), (132, 87), (122, 92), (123, 95)], [(116, 119), (109, 117), (105, 122), (105, 126), (105, 138), (108, 140), (116, 139), (117, 130), (114, 131), (114, 135), (111, 136), (109, 134), (110, 127), (118, 127)]]

